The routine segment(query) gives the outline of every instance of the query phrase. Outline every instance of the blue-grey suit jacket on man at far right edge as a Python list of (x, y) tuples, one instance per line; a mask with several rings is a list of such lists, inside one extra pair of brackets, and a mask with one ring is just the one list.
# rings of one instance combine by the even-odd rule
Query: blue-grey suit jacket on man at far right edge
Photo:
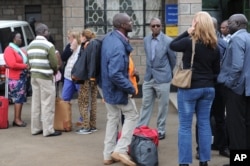
[[(235, 32), (228, 43), (222, 59), (218, 82), (236, 94), (250, 96), (250, 34), (241, 29)], [(245, 92), (245, 94), (244, 94)]]

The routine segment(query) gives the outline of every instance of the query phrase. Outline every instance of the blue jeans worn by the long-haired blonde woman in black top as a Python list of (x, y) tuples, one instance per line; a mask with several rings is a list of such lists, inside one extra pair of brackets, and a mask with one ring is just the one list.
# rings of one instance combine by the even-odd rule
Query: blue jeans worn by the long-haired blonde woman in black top
[(215, 96), (213, 87), (198, 89), (178, 89), (178, 150), (179, 163), (192, 163), (192, 120), (196, 113), (200, 161), (211, 158), (212, 134), (210, 110)]

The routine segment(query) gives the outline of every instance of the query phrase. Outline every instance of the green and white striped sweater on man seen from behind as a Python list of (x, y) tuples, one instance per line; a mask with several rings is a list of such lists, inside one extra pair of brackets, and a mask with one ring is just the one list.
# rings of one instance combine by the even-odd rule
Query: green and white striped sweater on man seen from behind
[(53, 79), (57, 72), (55, 47), (45, 37), (37, 36), (27, 49), (31, 77)]

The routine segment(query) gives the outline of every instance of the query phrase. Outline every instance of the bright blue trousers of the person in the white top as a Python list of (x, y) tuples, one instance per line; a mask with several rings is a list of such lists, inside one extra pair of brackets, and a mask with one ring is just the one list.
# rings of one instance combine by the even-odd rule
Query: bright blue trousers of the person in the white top
[(64, 101), (70, 101), (73, 98), (75, 92), (78, 92), (80, 88), (79, 84), (74, 83), (72, 80), (64, 79), (62, 88), (62, 99)]

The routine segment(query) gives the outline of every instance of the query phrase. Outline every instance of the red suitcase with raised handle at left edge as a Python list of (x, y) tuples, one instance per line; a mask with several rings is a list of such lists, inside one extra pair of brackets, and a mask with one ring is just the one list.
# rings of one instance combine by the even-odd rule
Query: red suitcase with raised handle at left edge
[(9, 99), (8, 99), (8, 75), (9, 70), (5, 70), (5, 95), (0, 96), (0, 129), (7, 129), (9, 127), (8, 121), (8, 109), (9, 109)]

